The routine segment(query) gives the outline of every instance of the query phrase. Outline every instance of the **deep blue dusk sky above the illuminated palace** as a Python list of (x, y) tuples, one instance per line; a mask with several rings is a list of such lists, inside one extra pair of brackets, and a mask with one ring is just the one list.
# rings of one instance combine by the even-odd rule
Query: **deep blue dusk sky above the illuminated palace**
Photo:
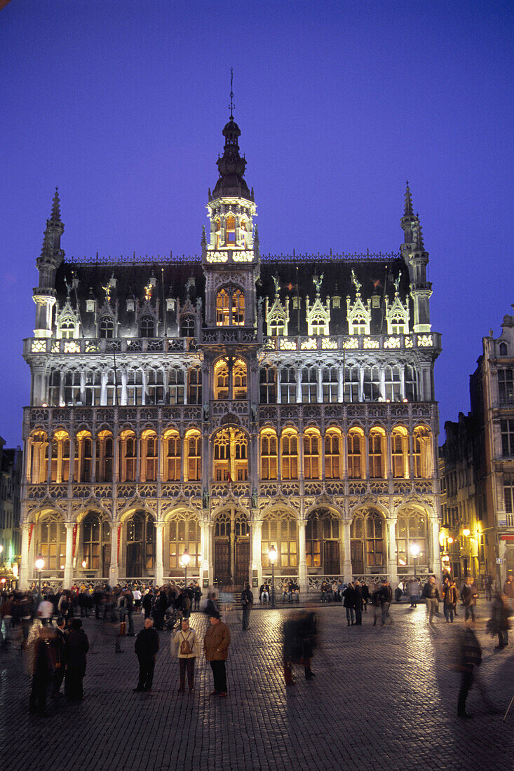
[(512, 291), (510, 2), (13, 0), (0, 12), (0, 435), (21, 441), (36, 257), (194, 254), (228, 119), (264, 253), (430, 252), (442, 426)]

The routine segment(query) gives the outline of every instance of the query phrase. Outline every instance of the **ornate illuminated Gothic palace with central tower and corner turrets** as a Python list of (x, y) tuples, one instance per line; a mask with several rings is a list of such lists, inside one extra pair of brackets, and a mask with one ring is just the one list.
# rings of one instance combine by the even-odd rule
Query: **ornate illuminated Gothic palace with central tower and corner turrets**
[(424, 250), (261, 255), (240, 131), (223, 130), (201, 259), (65, 259), (53, 200), (24, 342), (22, 584), (184, 574), (303, 591), (440, 573)]

